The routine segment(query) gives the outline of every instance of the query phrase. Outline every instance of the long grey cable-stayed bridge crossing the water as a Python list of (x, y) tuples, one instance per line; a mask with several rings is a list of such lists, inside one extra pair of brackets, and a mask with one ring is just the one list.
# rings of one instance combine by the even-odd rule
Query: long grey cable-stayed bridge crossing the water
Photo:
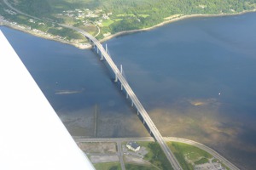
[[(66, 25), (65, 25), (66, 26)], [(131, 89), (130, 85), (128, 82), (125, 80), (125, 77), (123, 77), (122, 72), (119, 71), (118, 67), (114, 64), (113, 59), (109, 56), (107, 53), (107, 47), (106, 50), (102, 47), (101, 42), (99, 42), (96, 37), (91, 36), (88, 32), (82, 31), (79, 28), (75, 28), (73, 26), (66, 26), (69, 27), (73, 30), (79, 31), (81, 34), (84, 35), (84, 37), (87, 37), (90, 42), (93, 43), (93, 45), (96, 47), (97, 53), (101, 52), (102, 58), (101, 59), (106, 59), (108, 62), (108, 65), (112, 69), (114, 75), (115, 75), (115, 82), (120, 82), (121, 83), (121, 89), (125, 89), (126, 92), (126, 98), (130, 97), (131, 99), (131, 105), (135, 106), (137, 108), (137, 115), (141, 115), (143, 118), (143, 124), (147, 124), (150, 133), (153, 134), (154, 139), (160, 144), (161, 149), (164, 151), (166, 154), (166, 157), (168, 161), (171, 162), (173, 169), (178, 170), (182, 169), (182, 167), (179, 165), (177, 159), (173, 155), (172, 151), (169, 149), (167, 146), (165, 140), (163, 139), (162, 135), (158, 131), (157, 127), (155, 127), (154, 122), (151, 120), (151, 118), (148, 116), (147, 111), (145, 111), (143, 105), (137, 99), (136, 94), (134, 94), (133, 90)]]

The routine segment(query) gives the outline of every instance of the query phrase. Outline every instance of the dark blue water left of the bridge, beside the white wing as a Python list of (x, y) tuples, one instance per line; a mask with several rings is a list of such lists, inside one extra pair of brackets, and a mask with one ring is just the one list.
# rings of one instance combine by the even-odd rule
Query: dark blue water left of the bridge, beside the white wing
[[(72, 135), (148, 135), (94, 52), (7, 27), (1, 30)], [(132, 123), (136, 126), (131, 127)]]

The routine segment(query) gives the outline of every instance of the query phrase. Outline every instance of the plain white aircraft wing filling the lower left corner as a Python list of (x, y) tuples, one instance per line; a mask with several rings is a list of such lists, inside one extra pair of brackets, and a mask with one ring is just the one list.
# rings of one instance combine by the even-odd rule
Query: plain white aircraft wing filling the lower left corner
[(94, 169), (0, 30), (0, 169)]

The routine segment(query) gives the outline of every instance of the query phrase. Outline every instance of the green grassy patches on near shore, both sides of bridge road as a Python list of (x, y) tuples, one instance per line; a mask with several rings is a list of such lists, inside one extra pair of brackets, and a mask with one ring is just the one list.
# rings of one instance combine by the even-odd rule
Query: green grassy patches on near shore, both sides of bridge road
[[(122, 144), (126, 144), (123, 142)], [(164, 152), (160, 149), (160, 145), (156, 142), (142, 142), (138, 141), (141, 147), (144, 147), (148, 153), (143, 157), (145, 161), (149, 161), (150, 164), (137, 164), (137, 162), (125, 162), (125, 169), (127, 170), (154, 170), (154, 169), (163, 169), (169, 170), (172, 169), (170, 162), (166, 159)], [(217, 159), (213, 159), (213, 156), (205, 150), (201, 150), (193, 145), (183, 144), (178, 142), (167, 142), (167, 145), (172, 150), (173, 154), (176, 156), (177, 161), (180, 163), (183, 170), (193, 170), (196, 165), (205, 164), (207, 162), (219, 162)], [(125, 155), (124, 155), (125, 156)], [(125, 157), (124, 157), (125, 158)], [(124, 159), (125, 161), (125, 159)], [(221, 163), (223, 167), (224, 164)], [(108, 163), (97, 163), (94, 164), (97, 170), (114, 170), (120, 169), (119, 162), (108, 162)], [(225, 167), (229, 170), (228, 167)]]

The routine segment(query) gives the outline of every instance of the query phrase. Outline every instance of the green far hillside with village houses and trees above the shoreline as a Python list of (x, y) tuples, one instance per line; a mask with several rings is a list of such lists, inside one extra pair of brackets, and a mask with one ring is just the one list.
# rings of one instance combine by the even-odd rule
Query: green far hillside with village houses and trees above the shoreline
[[(76, 26), (98, 39), (119, 31), (155, 26), (189, 14), (237, 14), (256, 8), (256, 0), (2, 0), (0, 15), (68, 40), (81, 39), (76, 32), (56, 23)], [(25, 14), (11, 14), (6, 3)], [(12, 10), (11, 10), (12, 11)], [(54, 21), (54, 24), (53, 24)], [(39, 25), (39, 23), (41, 23)]]

